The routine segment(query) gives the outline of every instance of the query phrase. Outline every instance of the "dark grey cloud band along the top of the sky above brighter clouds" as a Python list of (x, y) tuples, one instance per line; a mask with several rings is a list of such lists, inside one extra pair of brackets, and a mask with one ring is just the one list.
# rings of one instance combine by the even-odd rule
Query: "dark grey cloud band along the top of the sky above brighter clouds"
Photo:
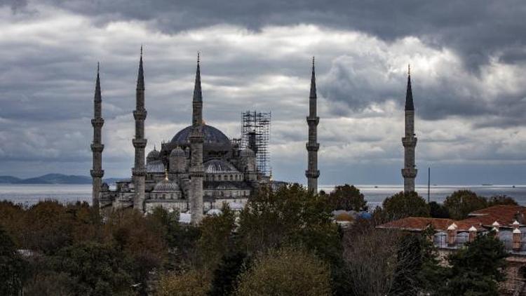
[[(437, 47), (447, 43), (462, 55), (468, 69), (475, 72), (493, 55), (505, 61), (526, 58), (521, 51), (526, 44), (523, 21), (526, 3), (522, 0), (41, 2), (90, 15), (101, 24), (118, 19), (149, 21), (168, 33), (225, 23), (254, 30), (266, 25), (311, 23), (367, 32), (384, 40), (418, 36)], [(27, 2), (15, 0), (6, 4), (20, 11)]]

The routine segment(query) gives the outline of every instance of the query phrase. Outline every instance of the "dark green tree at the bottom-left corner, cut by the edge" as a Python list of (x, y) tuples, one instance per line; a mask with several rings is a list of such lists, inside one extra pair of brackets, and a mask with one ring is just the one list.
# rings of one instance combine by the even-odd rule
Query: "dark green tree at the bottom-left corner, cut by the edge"
[(17, 253), (15, 243), (0, 227), (0, 295), (20, 295), (27, 267)]

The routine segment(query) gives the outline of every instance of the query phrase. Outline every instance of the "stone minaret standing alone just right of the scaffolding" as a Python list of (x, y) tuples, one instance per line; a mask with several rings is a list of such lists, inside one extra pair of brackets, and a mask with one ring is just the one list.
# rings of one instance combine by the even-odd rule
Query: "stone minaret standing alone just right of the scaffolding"
[(307, 177), (307, 186), (309, 191), (318, 193), (318, 149), (320, 144), (318, 140), (318, 123), (320, 118), (316, 116), (316, 74), (314, 74), (314, 57), (312, 57), (312, 78), (311, 78), (311, 95), (309, 95), (309, 116), (306, 118), (309, 125), (309, 142), (306, 142), (307, 153), (309, 154), (309, 163), (305, 175)]

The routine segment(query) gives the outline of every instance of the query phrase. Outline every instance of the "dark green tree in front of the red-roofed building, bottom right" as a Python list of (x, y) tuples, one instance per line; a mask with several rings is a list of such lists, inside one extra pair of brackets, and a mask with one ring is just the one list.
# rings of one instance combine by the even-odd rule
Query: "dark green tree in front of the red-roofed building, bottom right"
[(508, 253), (493, 232), (478, 235), (448, 258), (450, 268), (436, 295), (499, 295), (497, 283), (504, 281)]

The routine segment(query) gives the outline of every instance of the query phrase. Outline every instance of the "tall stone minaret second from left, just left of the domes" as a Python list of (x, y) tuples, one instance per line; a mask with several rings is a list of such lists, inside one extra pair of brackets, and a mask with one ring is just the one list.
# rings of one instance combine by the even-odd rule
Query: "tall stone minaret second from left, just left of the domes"
[(133, 147), (135, 147), (135, 166), (132, 168), (133, 184), (135, 186), (135, 198), (133, 199), (133, 208), (144, 211), (144, 178), (146, 177), (146, 168), (144, 167), (144, 147), (147, 140), (144, 139), (144, 119), (146, 119), (146, 109), (144, 109), (144, 71), (142, 69), (142, 46), (139, 61), (139, 74), (137, 75), (137, 89), (135, 92), (135, 110), (133, 118), (135, 119), (135, 138), (133, 138)]

